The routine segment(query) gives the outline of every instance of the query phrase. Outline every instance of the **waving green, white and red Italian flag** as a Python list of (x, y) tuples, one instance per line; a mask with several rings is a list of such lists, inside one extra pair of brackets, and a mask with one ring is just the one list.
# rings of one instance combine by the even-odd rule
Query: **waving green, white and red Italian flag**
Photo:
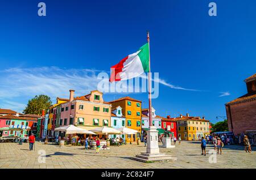
[(110, 82), (135, 78), (143, 72), (149, 72), (148, 43), (144, 44), (136, 53), (123, 58), (119, 63), (111, 67)]

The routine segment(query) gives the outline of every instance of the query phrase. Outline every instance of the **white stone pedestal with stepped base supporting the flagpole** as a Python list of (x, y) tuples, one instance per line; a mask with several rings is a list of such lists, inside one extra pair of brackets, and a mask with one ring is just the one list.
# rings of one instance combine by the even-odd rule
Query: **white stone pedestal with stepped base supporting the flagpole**
[(158, 147), (158, 130), (155, 126), (150, 126), (147, 131), (147, 149), (146, 152), (141, 152), (140, 155), (131, 157), (133, 160), (141, 162), (155, 162), (155, 161), (175, 161), (177, 158), (171, 157), (159, 152)]

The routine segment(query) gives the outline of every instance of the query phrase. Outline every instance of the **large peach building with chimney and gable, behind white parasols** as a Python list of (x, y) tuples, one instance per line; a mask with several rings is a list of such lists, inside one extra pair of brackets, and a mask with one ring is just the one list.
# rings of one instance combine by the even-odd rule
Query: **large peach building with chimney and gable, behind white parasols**
[(69, 92), (69, 101), (61, 104), (59, 126), (76, 125), (86, 130), (111, 126), (111, 104), (104, 101), (102, 92), (91, 91), (75, 98), (75, 91)]

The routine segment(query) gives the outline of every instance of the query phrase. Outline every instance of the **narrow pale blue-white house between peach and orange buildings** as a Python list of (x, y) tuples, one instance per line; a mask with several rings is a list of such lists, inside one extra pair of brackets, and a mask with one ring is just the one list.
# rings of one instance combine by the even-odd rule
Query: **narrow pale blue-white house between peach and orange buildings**
[[(114, 128), (126, 127), (125, 122), (121, 106), (112, 109), (111, 126)], [(109, 138), (123, 138), (125, 140), (125, 135), (109, 135)]]

